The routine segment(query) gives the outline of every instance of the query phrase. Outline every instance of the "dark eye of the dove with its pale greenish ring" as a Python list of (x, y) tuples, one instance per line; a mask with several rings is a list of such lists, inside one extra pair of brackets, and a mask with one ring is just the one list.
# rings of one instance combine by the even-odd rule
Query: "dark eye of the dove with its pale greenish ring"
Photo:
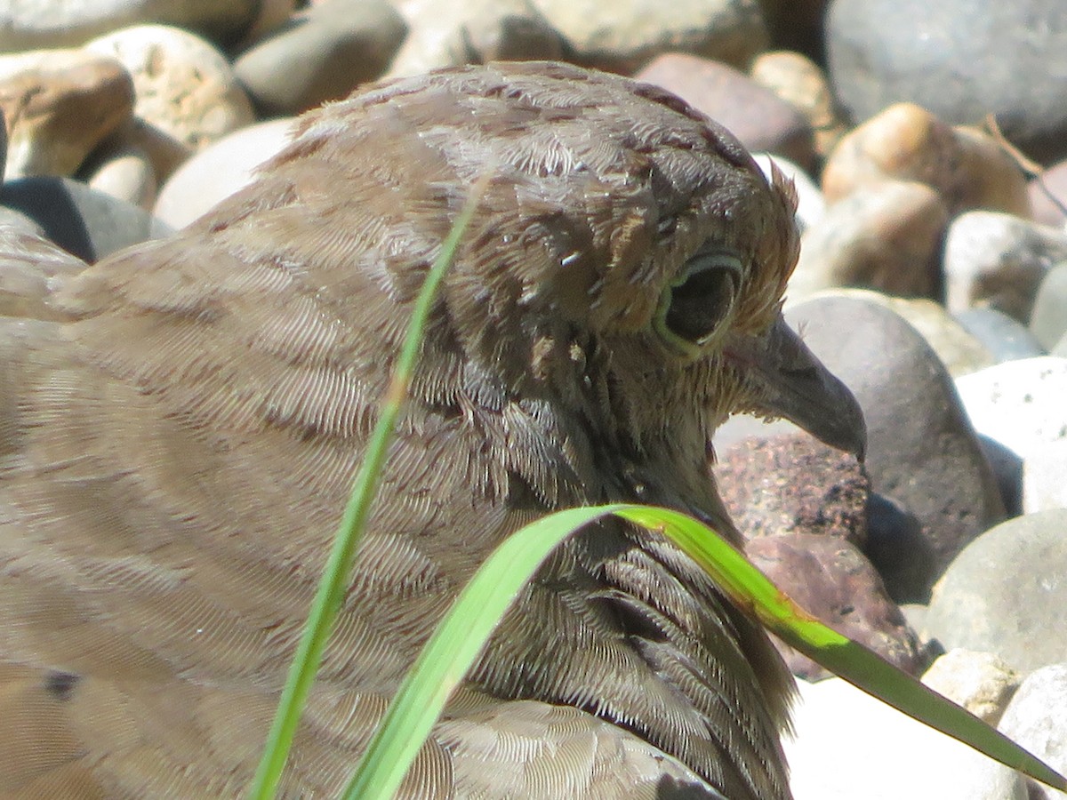
[(728, 253), (698, 253), (690, 258), (681, 278), (659, 300), (659, 335), (686, 350), (703, 345), (730, 314), (740, 276), (740, 260)]

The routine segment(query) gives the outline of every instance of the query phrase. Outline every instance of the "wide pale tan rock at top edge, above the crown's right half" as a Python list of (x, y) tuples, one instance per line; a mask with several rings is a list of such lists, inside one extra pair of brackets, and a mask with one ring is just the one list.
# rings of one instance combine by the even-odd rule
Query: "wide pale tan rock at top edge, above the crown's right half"
[(534, 0), (584, 66), (633, 75), (660, 53), (690, 52), (740, 68), (767, 49), (760, 0)]

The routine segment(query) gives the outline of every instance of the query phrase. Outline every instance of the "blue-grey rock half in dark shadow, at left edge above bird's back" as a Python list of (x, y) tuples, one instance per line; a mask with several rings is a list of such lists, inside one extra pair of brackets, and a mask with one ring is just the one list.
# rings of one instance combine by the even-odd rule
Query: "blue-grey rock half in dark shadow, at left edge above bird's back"
[(90, 263), (170, 233), (144, 209), (70, 178), (10, 181), (0, 189), (0, 204), (25, 213), (48, 239)]

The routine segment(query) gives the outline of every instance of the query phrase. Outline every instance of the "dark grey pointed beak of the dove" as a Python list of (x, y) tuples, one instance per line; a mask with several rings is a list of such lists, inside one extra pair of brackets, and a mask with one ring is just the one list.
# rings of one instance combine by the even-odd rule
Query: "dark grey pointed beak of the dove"
[(755, 385), (754, 411), (784, 417), (831, 447), (863, 460), (866, 425), (859, 403), (781, 314), (763, 336), (731, 337), (726, 357)]

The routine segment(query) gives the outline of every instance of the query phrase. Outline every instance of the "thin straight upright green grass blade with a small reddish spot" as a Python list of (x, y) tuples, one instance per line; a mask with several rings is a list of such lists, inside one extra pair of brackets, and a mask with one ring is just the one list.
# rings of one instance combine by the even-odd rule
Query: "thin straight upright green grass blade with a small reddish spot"
[(269, 800), (274, 797), (277, 789), (282, 770), (285, 768), (289, 749), (292, 747), (292, 739), (300, 724), (300, 716), (303, 713), (307, 693), (315, 681), (315, 674), (322, 660), (322, 652), (325, 650), (334, 620), (345, 597), (352, 554), (363, 535), (363, 528), (370, 513), (370, 506), (378, 489), (378, 480), (393, 436), (393, 430), (403, 400), (408, 395), (408, 387), (411, 383), (415, 361), (418, 357), (423, 331), (430, 315), (433, 297), (456, 257), (460, 239), (471, 223), (487, 181), (488, 175), (472, 188), (463, 209), (456, 218), (448, 237), (442, 243), (441, 253), (434, 260), (415, 300), (412, 319), (397, 357), (395, 371), (381, 403), (378, 421), (367, 444), (352, 494), (345, 507), (330, 558), (312, 603), (304, 633), (297, 646), (297, 653), (282, 690), (274, 721), (267, 735), (262, 757), (253, 778), (249, 797), (254, 800)]

